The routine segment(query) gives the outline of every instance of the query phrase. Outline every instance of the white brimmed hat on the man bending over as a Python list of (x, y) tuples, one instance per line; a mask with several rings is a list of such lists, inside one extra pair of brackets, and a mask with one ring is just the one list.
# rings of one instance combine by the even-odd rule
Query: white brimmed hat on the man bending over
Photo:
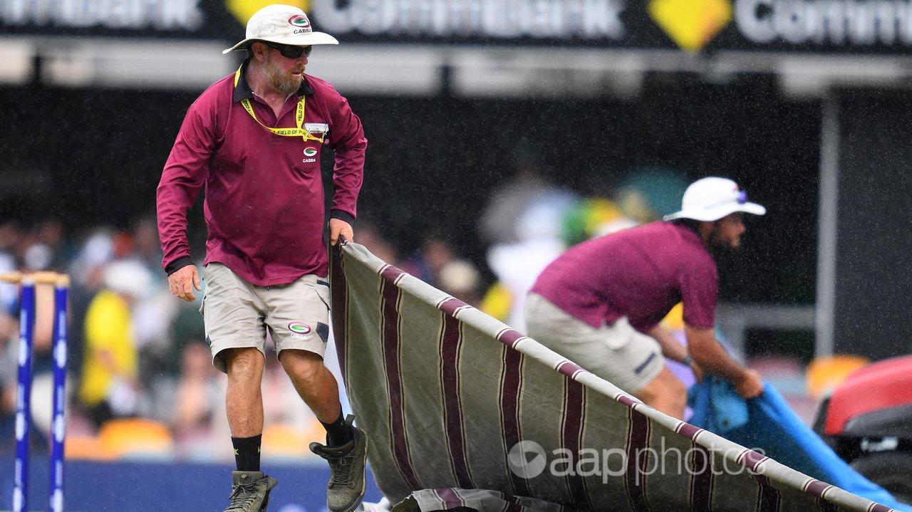
[(763, 215), (766, 209), (748, 202), (747, 193), (738, 189), (731, 179), (703, 178), (690, 184), (684, 191), (681, 210), (666, 215), (665, 220), (693, 219), (703, 221), (720, 220), (736, 211)]

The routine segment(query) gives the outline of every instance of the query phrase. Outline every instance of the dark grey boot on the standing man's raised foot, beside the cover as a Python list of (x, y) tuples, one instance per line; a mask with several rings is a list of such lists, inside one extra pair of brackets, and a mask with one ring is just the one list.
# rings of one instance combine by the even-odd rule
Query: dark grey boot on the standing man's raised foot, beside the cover
[[(351, 425), (354, 416), (346, 421)], [(331, 476), (326, 486), (326, 506), (330, 512), (352, 512), (364, 497), (364, 465), (368, 460), (368, 436), (352, 425), (355, 438), (341, 446), (311, 443), (310, 451), (326, 459)]]

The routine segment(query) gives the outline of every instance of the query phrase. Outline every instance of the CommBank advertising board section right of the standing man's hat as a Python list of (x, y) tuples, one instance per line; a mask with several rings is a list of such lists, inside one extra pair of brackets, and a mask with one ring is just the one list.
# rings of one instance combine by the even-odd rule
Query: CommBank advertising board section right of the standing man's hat
[(340, 36), (582, 46), (905, 52), (909, 0), (313, 0)]

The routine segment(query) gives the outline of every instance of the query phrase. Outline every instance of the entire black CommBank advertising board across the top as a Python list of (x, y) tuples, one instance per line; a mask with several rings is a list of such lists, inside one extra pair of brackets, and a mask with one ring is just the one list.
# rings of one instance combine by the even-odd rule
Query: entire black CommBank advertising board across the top
[[(904, 54), (912, 0), (285, 0), (347, 42)], [(268, 0), (0, 0), (5, 33), (233, 40)]]

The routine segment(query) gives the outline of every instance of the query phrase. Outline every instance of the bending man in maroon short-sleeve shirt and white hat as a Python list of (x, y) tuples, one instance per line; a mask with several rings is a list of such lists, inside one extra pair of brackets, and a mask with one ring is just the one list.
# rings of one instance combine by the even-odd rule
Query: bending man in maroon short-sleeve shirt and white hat
[[(743, 398), (762, 393), (760, 374), (736, 363), (714, 333), (719, 276), (710, 247), (736, 249), (742, 212), (763, 215), (731, 179), (704, 178), (663, 222), (581, 243), (542, 271), (525, 305), (535, 340), (682, 418), (684, 385), (665, 357), (731, 381)], [(684, 305), (688, 349), (659, 322)]]

